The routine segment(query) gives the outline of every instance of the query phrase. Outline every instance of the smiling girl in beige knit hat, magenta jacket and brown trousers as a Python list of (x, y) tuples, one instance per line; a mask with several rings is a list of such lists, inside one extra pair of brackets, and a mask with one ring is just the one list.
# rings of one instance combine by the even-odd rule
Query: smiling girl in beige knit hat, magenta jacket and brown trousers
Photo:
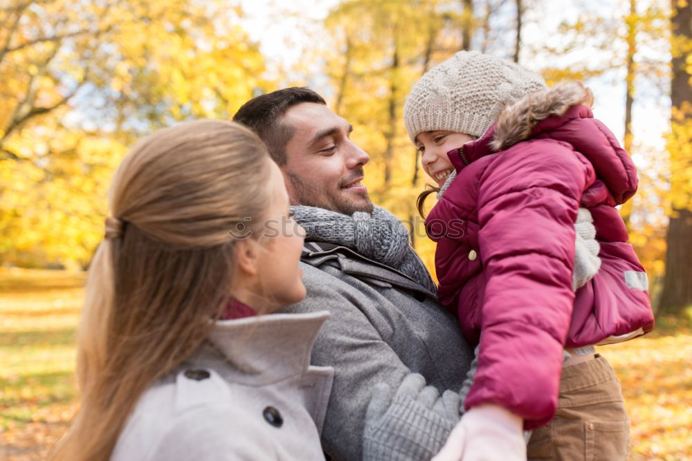
[[(408, 95), (406, 129), (441, 193), (426, 219), (439, 299), (480, 345), (466, 413), (439, 459), (519, 446), (522, 429), (534, 430), (529, 458), (626, 458), (621, 390), (594, 345), (648, 332), (653, 314), (615, 209), (635, 194), (635, 167), (591, 104), (580, 84), (547, 89), (476, 52), (439, 64)], [(580, 207), (601, 268), (573, 285)]]

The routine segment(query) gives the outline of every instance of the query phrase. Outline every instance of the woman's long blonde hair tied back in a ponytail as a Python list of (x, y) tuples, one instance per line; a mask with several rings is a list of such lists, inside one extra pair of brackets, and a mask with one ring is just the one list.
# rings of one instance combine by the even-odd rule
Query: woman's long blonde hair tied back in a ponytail
[(86, 281), (81, 405), (51, 458), (110, 458), (140, 395), (201, 345), (230, 297), (230, 232), (262, 227), (270, 161), (255, 133), (221, 120), (162, 129), (122, 161), (109, 196), (122, 230)]

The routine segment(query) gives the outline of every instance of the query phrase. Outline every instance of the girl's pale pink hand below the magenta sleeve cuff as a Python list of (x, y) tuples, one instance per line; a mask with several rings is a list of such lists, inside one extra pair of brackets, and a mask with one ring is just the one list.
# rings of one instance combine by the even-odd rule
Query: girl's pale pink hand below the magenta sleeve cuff
[(521, 418), (502, 406), (475, 406), (464, 413), (432, 461), (526, 460), (522, 426)]

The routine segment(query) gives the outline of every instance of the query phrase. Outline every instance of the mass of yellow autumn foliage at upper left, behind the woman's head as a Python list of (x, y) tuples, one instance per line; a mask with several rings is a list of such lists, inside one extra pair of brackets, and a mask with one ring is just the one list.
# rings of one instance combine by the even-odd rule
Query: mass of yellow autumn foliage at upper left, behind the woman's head
[(0, 262), (83, 265), (127, 147), (261, 90), (237, 7), (194, 0), (0, 2)]

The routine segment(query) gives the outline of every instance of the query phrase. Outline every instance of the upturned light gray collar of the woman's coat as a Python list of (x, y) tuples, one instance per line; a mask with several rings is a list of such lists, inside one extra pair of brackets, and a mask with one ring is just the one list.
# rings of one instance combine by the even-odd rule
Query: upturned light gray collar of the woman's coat
[(304, 375), (329, 312), (268, 314), (217, 321), (208, 342), (186, 362), (209, 366), (233, 382), (266, 385)]

